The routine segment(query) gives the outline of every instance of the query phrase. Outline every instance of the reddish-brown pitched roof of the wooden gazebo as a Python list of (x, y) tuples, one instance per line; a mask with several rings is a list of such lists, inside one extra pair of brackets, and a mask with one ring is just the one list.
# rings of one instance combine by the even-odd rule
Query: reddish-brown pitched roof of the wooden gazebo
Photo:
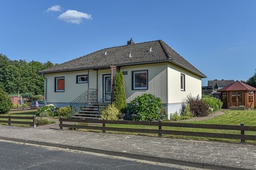
[(218, 91), (256, 91), (256, 88), (243, 82), (236, 81)]

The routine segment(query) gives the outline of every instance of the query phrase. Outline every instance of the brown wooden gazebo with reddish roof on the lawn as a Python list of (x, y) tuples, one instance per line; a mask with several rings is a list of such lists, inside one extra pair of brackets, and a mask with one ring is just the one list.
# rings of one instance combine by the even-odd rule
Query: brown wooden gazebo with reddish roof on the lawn
[(221, 92), (222, 108), (224, 109), (229, 109), (230, 106), (241, 105), (244, 105), (246, 108), (250, 105), (252, 108), (256, 107), (256, 88), (243, 82), (233, 82), (218, 91)]

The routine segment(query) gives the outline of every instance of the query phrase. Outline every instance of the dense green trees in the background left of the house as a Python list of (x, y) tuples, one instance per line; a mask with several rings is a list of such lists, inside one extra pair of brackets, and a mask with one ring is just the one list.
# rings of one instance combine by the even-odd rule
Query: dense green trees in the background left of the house
[(17, 94), (18, 88), (22, 89), (22, 93), (44, 94), (44, 77), (38, 71), (54, 65), (49, 61), (11, 60), (0, 54), (0, 88), (8, 94)]

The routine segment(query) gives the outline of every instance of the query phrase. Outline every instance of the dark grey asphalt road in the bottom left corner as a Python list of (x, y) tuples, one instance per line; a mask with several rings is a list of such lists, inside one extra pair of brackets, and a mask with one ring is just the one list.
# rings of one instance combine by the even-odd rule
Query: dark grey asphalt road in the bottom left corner
[(182, 170), (38, 145), (0, 142), (0, 170)]

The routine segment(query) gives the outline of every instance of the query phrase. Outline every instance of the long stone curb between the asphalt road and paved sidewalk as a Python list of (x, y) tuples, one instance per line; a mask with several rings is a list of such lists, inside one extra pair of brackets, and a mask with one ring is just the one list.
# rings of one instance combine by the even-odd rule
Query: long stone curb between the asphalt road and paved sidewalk
[(10, 138), (10, 137), (4, 137), (4, 136), (0, 136), (0, 140), (22, 142), (22, 143), (29, 143), (29, 144), (38, 144), (43, 146), (59, 147), (59, 148), (71, 149), (71, 150), (81, 150), (81, 151), (101, 153), (101, 154), (106, 154), (111, 156), (120, 156), (120, 157), (140, 159), (145, 161), (177, 164), (182, 166), (197, 167), (197, 168), (210, 169), (210, 170), (255, 170), (255, 169), (232, 167), (232, 166), (226, 166), (226, 165), (220, 165), (220, 164), (205, 163), (204, 161), (186, 161), (186, 160), (180, 160), (180, 159), (163, 158), (163, 157), (142, 155), (142, 154), (136, 154), (136, 153), (102, 150), (102, 149), (95, 149), (90, 147), (79, 147), (79, 146), (68, 145), (68, 144), (57, 144), (57, 143), (51, 143), (51, 142), (34, 141), (29, 139)]

